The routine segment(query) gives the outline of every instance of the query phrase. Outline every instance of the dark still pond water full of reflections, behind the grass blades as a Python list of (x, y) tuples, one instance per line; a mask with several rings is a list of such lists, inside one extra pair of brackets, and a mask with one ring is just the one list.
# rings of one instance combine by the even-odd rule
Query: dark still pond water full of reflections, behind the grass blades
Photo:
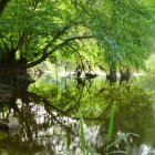
[(104, 155), (114, 110), (112, 142), (122, 141), (108, 153), (155, 155), (154, 90), (154, 78), (145, 76), (110, 83), (105, 76), (76, 80), (42, 74), (30, 85), (0, 84), (0, 117), (13, 115), (20, 122), (19, 128), (0, 131), (0, 154), (82, 155), (82, 116), (87, 149)]

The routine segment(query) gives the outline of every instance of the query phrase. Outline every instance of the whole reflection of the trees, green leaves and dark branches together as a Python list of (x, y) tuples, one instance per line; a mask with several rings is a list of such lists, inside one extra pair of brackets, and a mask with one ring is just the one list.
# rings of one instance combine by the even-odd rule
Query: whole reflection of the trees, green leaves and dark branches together
[[(92, 143), (100, 142), (94, 146), (101, 153), (105, 148), (104, 142), (112, 107), (116, 110), (114, 136), (118, 131), (132, 132), (142, 135), (141, 140), (145, 141), (147, 126), (152, 123), (147, 120), (154, 120), (152, 100), (144, 90), (132, 83), (106, 83), (94, 80), (91, 86), (85, 81), (85, 85), (81, 89), (76, 89), (74, 81), (69, 82), (64, 89), (39, 83), (32, 84), (29, 92), (28, 85), (18, 91), (12, 90), (6, 105), (14, 110), (14, 115), (21, 123), (21, 128), (13, 135), (13, 140), (8, 138), (9, 143), (17, 145), (20, 142), (20, 148), (25, 148), (29, 143), (28, 149), (31, 153), (35, 148), (55, 153), (56, 144), (53, 142), (55, 138), (58, 145), (62, 143), (61, 138), (65, 138), (69, 147), (71, 141), (73, 142), (79, 135), (78, 120), (81, 114), (87, 128), (94, 126), (99, 128), (97, 138), (94, 137), (95, 141)], [(137, 146), (140, 143), (138, 141)], [(7, 147), (4, 144), (6, 142), (2, 141), (0, 147)]]

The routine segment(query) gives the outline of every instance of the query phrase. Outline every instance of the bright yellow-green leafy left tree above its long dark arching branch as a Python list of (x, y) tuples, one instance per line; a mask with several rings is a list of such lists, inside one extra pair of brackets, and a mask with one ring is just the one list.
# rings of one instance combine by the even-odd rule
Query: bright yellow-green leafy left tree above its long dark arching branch
[(1, 64), (31, 68), (70, 42), (92, 38), (71, 1), (12, 0), (0, 22)]

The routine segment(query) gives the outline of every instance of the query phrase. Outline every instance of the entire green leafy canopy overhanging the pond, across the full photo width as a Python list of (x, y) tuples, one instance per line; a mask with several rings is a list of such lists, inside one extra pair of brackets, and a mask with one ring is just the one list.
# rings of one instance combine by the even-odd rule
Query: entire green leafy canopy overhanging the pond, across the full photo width
[(32, 68), (55, 54), (92, 55), (111, 70), (144, 66), (151, 53), (152, 1), (0, 1), (0, 64)]

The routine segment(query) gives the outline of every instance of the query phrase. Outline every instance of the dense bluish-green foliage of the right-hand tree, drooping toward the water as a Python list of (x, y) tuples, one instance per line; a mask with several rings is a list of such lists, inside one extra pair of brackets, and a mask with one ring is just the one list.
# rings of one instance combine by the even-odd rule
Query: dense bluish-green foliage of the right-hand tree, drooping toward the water
[(110, 72), (117, 68), (144, 66), (152, 46), (152, 4), (151, 1), (99, 0), (82, 7), (87, 10), (90, 29)]

